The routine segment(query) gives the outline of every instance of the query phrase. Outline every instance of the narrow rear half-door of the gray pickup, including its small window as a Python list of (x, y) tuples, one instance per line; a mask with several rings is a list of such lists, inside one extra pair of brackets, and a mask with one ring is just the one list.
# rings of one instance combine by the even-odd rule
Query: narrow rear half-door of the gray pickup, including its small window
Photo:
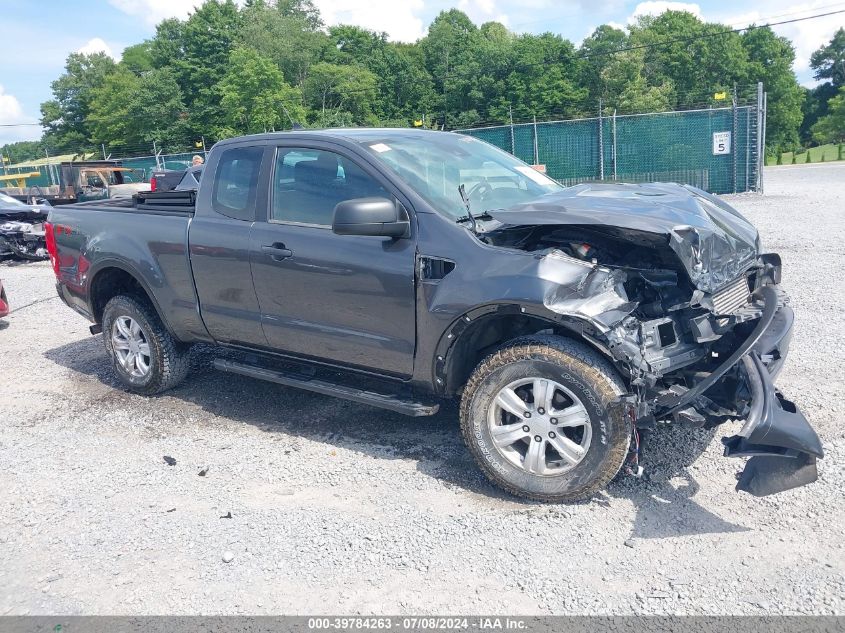
[[(260, 187), (262, 146), (224, 149), (213, 171), (213, 186), (200, 189), (188, 228), (191, 269), (200, 314), (220, 343), (266, 346), (258, 299), (252, 286), (250, 233), (256, 208), (266, 207)], [(265, 171), (268, 171), (265, 169)]]

